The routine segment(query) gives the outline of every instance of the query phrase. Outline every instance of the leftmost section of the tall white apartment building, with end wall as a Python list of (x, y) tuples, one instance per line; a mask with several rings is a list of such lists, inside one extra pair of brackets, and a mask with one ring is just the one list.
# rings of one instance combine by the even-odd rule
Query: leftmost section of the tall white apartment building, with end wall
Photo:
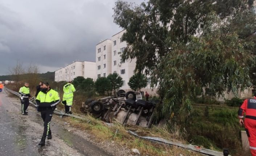
[(96, 45), (96, 78), (107, 77), (111, 72), (112, 41), (106, 39)]

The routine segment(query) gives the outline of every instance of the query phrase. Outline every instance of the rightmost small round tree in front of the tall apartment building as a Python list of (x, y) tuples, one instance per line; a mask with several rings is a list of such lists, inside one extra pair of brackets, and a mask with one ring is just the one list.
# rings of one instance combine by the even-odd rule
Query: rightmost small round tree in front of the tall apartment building
[(144, 74), (135, 73), (135, 75), (130, 78), (128, 85), (135, 91), (140, 90), (141, 88), (146, 87), (147, 77)]

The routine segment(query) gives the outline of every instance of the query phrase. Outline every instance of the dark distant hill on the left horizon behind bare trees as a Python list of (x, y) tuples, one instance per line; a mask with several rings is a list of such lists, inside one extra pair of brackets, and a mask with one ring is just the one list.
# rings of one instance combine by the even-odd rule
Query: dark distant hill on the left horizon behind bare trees
[[(23, 74), (22, 76), (27, 77), (27, 74)], [(14, 75), (2, 75), (0, 76), (0, 81), (9, 80), (13, 81)], [(47, 73), (38, 73), (38, 77), (40, 81), (54, 81), (54, 72)]]

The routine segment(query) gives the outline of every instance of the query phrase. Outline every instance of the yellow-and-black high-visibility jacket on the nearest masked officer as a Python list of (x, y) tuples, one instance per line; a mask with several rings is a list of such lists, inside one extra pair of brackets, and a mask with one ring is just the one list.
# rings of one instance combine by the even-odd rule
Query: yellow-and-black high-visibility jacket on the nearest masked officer
[(56, 105), (61, 102), (58, 92), (53, 89), (48, 90), (44, 93), (40, 91), (36, 98), (36, 103), (38, 106), (38, 111), (42, 110), (54, 110)]

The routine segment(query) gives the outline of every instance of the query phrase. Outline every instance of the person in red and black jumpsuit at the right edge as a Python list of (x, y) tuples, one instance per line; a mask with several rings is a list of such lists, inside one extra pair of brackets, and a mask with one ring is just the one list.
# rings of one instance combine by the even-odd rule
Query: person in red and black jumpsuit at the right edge
[(256, 93), (253, 98), (244, 100), (238, 110), (238, 118), (240, 125), (245, 127), (251, 154), (256, 156)]

